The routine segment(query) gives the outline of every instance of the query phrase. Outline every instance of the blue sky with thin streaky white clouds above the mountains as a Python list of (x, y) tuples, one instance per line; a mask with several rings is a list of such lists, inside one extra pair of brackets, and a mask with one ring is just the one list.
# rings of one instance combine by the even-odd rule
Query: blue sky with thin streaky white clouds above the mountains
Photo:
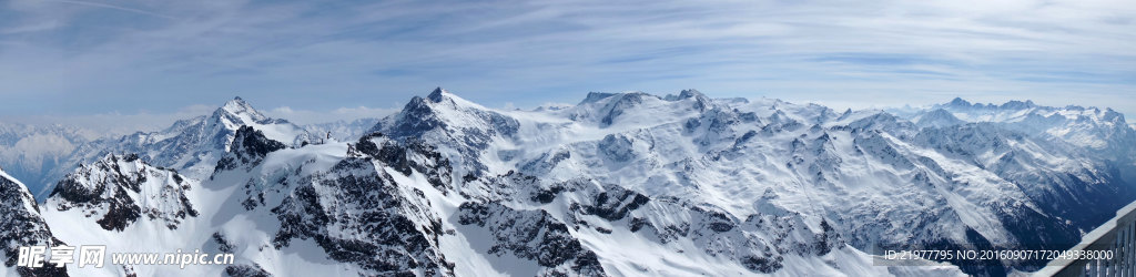
[(294, 121), (443, 86), (490, 107), (590, 91), (835, 108), (1030, 99), (1136, 115), (1125, 1), (0, 3), (0, 120), (165, 125), (234, 95)]

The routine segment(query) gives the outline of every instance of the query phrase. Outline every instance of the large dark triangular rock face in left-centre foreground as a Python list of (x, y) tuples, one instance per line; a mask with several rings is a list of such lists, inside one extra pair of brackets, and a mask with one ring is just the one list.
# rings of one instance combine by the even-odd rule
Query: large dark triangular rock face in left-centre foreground
[(281, 220), (273, 243), (279, 249), (312, 238), (331, 259), (375, 275), (453, 275), (429, 201), (381, 171), (371, 159), (350, 158), (302, 182), (272, 210)]

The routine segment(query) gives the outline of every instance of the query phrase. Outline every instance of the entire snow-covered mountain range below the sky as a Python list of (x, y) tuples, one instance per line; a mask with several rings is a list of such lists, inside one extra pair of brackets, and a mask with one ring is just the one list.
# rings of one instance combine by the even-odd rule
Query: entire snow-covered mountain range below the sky
[(871, 254), (1067, 247), (1136, 199), (1136, 129), (1110, 109), (835, 111), (685, 90), (498, 110), (437, 89), (369, 123), (300, 127), (237, 98), (81, 143), (39, 205), (2, 183), (23, 202), (0, 223), (39, 227), (0, 245), (237, 258), (66, 268), (83, 276), (1005, 275), (1029, 265)]

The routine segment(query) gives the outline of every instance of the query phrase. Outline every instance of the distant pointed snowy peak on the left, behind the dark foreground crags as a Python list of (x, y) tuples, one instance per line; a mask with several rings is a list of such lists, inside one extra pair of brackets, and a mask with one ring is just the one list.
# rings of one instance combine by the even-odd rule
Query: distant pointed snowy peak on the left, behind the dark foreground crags
[(108, 153), (136, 153), (149, 165), (174, 168), (186, 177), (202, 179), (212, 174), (241, 126), (260, 131), (265, 136), (289, 145), (311, 142), (315, 137), (287, 120), (266, 117), (241, 98), (235, 98), (210, 116), (178, 120), (161, 132), (135, 133), (84, 144), (52, 175), (59, 179), (72, 169), (66, 165), (78, 166)]

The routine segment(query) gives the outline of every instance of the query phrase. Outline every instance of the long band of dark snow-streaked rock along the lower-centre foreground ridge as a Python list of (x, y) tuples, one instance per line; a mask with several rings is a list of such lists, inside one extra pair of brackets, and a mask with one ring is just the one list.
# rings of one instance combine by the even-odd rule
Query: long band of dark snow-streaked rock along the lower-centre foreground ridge
[[(459, 220), (463, 225), (494, 226), (488, 223), (498, 220), (500, 226), (515, 226), (498, 229), (486, 227), (492, 234), (504, 232), (509, 236), (524, 237), (524, 232), (531, 230), (521, 232), (516, 228), (528, 227), (516, 226), (533, 226), (534, 221), (540, 225), (543, 224), (541, 220), (562, 224), (576, 232), (591, 228), (601, 234), (611, 234), (615, 229), (626, 229), (641, 236), (655, 237), (662, 244), (692, 243), (709, 255), (732, 259), (753, 272), (763, 274), (783, 268), (784, 255), (824, 255), (843, 247), (845, 243), (828, 221), (821, 221), (820, 228), (815, 230), (801, 220), (799, 213), (790, 211), (777, 215), (757, 213), (740, 219), (712, 207), (701, 207), (675, 198), (651, 199), (618, 185), (598, 184), (587, 179), (544, 184), (540, 178), (520, 173), (478, 182), (491, 184), (487, 187), (493, 187), (490, 190), (492, 196), (463, 204)], [(567, 209), (561, 208), (565, 210), (562, 217), (548, 215), (548, 219), (537, 220), (519, 217), (541, 213), (540, 217), (529, 216), (541, 218), (545, 210), (510, 208), (549, 204), (563, 204)], [(611, 228), (604, 225), (610, 225)], [(521, 233), (516, 234), (518, 232)], [(575, 237), (573, 232), (566, 232), (566, 235)], [(506, 238), (494, 241), (499, 242), (495, 244), (499, 252), (519, 247)], [(540, 249), (525, 249), (521, 252), (532, 251)]]

